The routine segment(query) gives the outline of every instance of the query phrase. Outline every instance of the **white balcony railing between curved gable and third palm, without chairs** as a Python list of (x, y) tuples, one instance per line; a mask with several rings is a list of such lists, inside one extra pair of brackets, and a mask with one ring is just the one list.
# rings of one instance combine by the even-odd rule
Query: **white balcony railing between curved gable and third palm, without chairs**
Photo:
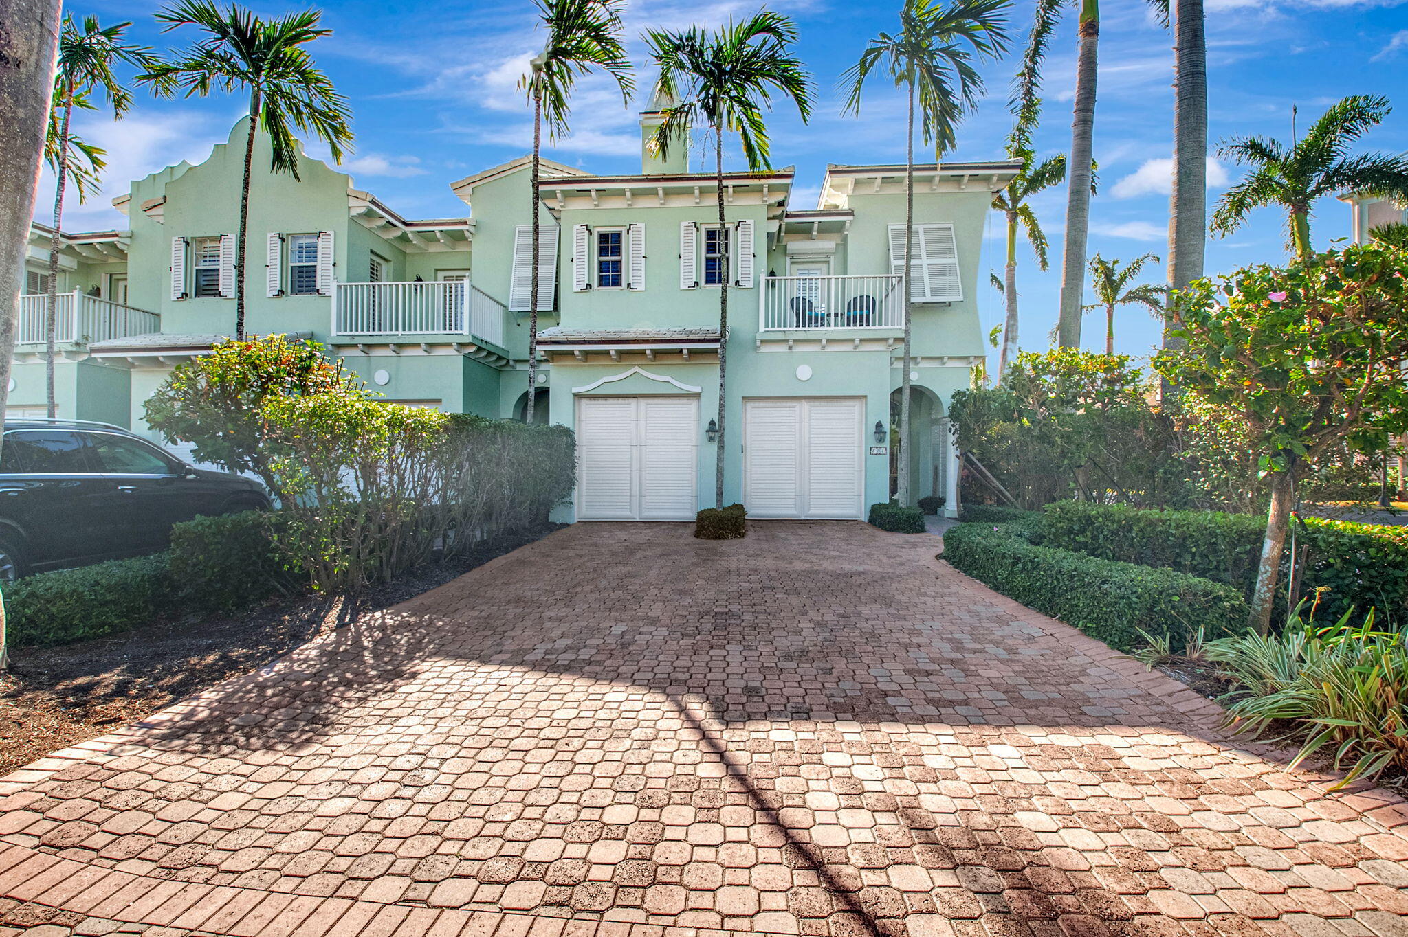
[(465, 281), (338, 283), (332, 333), (472, 335), (503, 346), (504, 305)]

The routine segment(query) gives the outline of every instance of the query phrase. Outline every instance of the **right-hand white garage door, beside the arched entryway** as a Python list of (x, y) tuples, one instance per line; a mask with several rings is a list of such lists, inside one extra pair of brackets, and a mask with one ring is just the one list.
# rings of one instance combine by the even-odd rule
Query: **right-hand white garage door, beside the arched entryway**
[(862, 400), (743, 402), (743, 504), (755, 518), (860, 519)]

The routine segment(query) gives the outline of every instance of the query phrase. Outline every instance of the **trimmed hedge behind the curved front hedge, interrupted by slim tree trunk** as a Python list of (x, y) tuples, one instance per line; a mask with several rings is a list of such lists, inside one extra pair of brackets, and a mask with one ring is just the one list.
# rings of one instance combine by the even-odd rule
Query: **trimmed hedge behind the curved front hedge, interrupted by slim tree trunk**
[[(1243, 597), (1256, 585), (1264, 533), (1262, 516), (1209, 511), (1062, 501), (1042, 515), (1048, 546), (1228, 582)], [(1304, 528), (1295, 525), (1295, 540), (1309, 547), (1304, 594), (1329, 587), (1319, 620), (1335, 620), (1350, 606), (1364, 612), (1373, 605), (1394, 620), (1408, 612), (1408, 528), (1305, 518)]]

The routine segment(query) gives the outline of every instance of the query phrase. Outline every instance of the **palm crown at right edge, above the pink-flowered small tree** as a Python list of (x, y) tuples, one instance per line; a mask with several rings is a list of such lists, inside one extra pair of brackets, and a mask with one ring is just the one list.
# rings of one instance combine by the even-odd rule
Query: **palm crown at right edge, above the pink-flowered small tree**
[(1354, 94), (1332, 104), (1290, 146), (1263, 136), (1242, 136), (1219, 146), (1219, 155), (1252, 172), (1222, 193), (1212, 212), (1212, 232), (1226, 236), (1255, 208), (1280, 205), (1287, 212), (1291, 250), (1305, 259), (1312, 253), (1311, 205), (1321, 196), (1354, 191), (1408, 200), (1408, 153), (1349, 155), (1350, 144), (1383, 122), (1390, 110), (1385, 97)]

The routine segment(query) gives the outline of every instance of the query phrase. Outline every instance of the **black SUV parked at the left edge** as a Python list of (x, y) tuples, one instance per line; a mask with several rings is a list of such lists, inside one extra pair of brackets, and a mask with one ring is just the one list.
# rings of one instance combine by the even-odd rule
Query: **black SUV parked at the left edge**
[(7, 419), (0, 581), (165, 547), (173, 523), (268, 508), (258, 481), (193, 468), (141, 436), (76, 419)]

